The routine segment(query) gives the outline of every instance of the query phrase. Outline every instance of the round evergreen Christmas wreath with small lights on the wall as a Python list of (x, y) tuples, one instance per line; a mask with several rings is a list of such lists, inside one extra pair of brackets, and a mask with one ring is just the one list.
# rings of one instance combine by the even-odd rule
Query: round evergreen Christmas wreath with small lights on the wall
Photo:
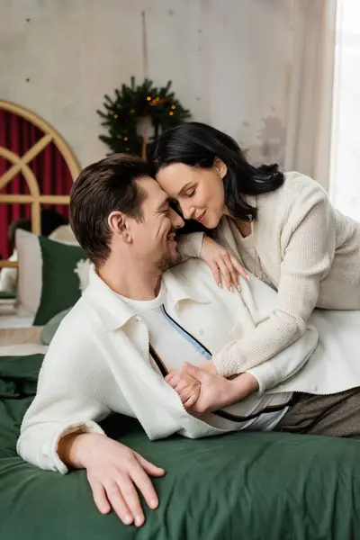
[(170, 92), (171, 81), (157, 88), (147, 78), (142, 85), (121, 85), (115, 97), (104, 96), (103, 111), (96, 111), (108, 130), (100, 135), (111, 152), (121, 152), (147, 157), (149, 145), (162, 131), (183, 123), (191, 117), (188, 110)]

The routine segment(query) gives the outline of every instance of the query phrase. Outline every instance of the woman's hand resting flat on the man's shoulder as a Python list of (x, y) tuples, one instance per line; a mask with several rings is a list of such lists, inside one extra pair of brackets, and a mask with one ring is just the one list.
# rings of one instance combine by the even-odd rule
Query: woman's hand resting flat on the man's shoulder
[(225, 249), (225, 247), (220, 246), (220, 244), (207, 236), (203, 237), (200, 257), (210, 266), (212, 275), (219, 287), (221, 287), (221, 277), (231, 292), (234, 288), (239, 290), (239, 274), (248, 280), (247, 271), (238, 262), (238, 258), (235, 257), (232, 251)]

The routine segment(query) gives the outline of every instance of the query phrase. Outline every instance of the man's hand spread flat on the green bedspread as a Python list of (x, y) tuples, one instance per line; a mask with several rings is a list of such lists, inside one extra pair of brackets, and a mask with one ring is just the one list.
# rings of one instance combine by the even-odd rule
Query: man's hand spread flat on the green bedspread
[(102, 514), (113, 509), (125, 525), (143, 525), (136, 488), (150, 509), (157, 508), (157, 493), (148, 475), (163, 476), (165, 471), (128, 446), (104, 435), (86, 433), (61, 439), (58, 455), (64, 463), (86, 469), (94, 503)]

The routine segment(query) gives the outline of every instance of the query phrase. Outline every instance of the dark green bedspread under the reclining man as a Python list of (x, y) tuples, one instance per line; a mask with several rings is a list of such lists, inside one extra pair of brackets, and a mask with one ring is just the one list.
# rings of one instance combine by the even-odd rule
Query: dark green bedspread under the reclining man
[(111, 437), (166, 469), (146, 525), (125, 527), (94, 507), (85, 472), (25, 464), (15, 444), (42, 356), (0, 357), (0, 540), (360, 538), (356, 441), (275, 433), (150, 442), (114, 415)]

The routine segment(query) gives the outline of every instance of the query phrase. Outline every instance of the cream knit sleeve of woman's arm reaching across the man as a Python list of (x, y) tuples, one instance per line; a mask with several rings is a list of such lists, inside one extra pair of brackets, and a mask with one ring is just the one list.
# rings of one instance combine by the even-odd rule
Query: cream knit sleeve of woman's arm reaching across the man
[(335, 255), (335, 216), (327, 194), (315, 183), (294, 200), (284, 227), (275, 311), (246, 337), (213, 356), (224, 376), (262, 364), (300, 338), (318, 302), (320, 280), (329, 273)]

